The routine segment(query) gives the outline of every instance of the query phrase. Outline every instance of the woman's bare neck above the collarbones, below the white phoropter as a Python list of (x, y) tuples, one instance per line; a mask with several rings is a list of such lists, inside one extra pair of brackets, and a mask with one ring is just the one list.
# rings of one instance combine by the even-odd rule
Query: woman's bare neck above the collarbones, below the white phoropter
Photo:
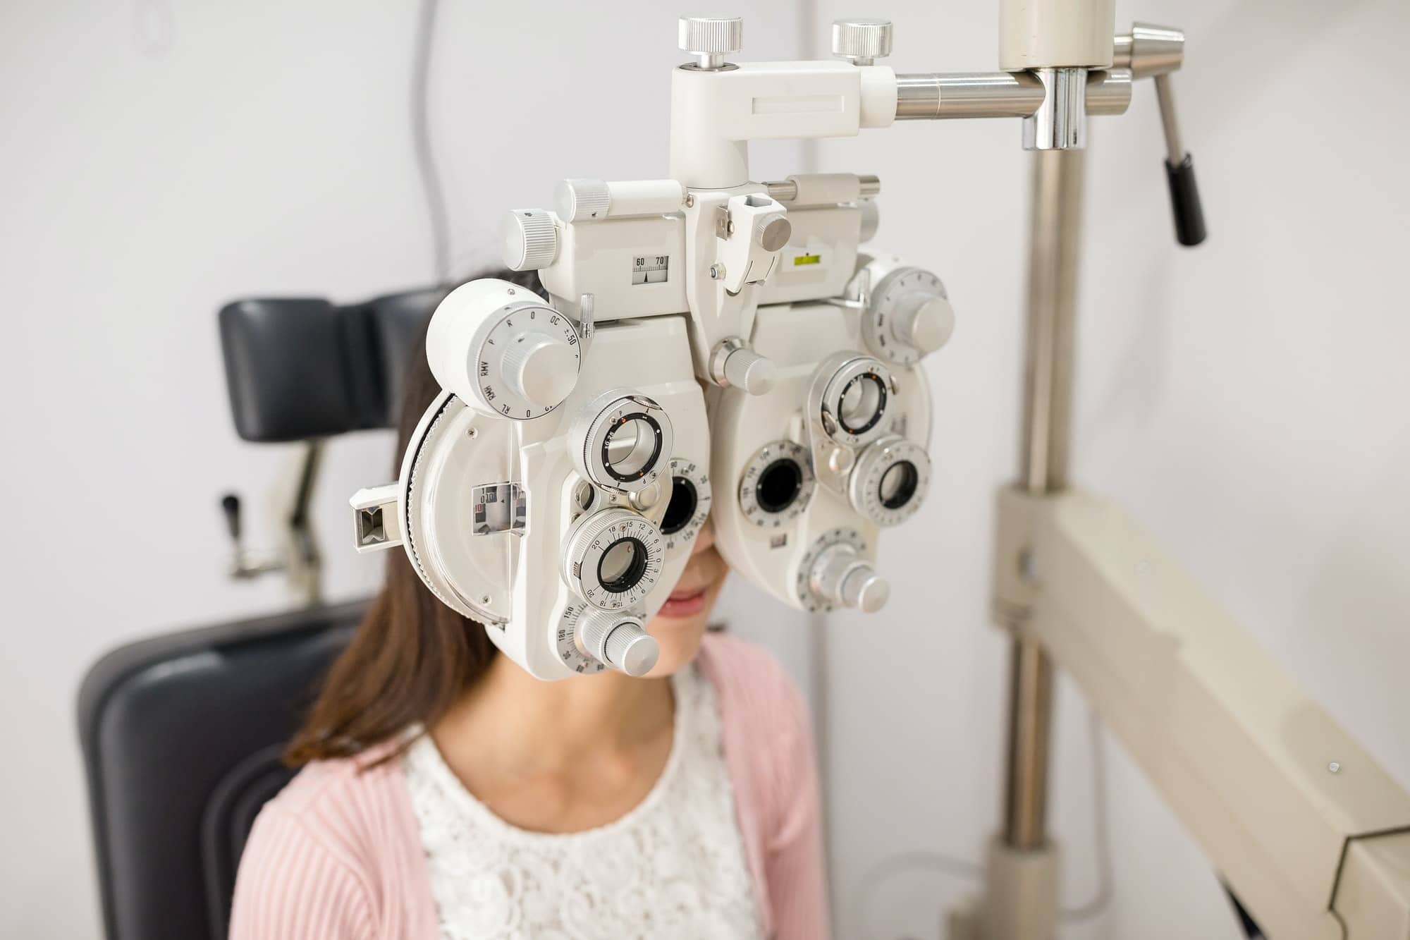
[(453, 768), (472, 764), (510, 778), (571, 775), (602, 757), (656, 749), (663, 735), (670, 740), (673, 716), (668, 679), (603, 672), (543, 682), (495, 656), (431, 734)]

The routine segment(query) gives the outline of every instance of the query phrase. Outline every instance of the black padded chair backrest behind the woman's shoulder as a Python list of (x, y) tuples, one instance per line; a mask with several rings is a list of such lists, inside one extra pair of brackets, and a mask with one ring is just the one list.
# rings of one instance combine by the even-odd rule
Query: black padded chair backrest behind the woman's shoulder
[(121, 646), (79, 692), (79, 737), (109, 940), (224, 940), (283, 745), (364, 601)]

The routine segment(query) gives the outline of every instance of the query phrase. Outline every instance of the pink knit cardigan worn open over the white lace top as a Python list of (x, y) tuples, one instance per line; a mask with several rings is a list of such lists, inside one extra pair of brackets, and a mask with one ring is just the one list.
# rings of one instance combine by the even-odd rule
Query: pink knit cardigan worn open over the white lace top
[[(763, 649), (709, 634), (725, 762), (766, 936), (828, 937), (818, 778), (798, 690)], [(372, 751), (368, 759), (379, 752)], [(323, 761), (255, 820), (231, 940), (434, 940), (436, 902), (400, 761)]]

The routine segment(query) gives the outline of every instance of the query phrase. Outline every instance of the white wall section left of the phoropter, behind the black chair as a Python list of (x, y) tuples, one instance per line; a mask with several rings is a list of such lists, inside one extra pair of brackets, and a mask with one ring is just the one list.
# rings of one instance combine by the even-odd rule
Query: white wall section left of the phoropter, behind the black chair
[[(757, 6), (750, 51), (797, 56), (801, 4)], [(216, 309), (431, 279), (409, 137), (415, 13), (0, 4), (0, 936), (99, 934), (73, 718), (89, 663), (283, 604), (274, 580), (223, 574), (219, 494), (258, 505), (285, 454), (234, 435)], [(666, 174), (674, 17), (647, 0), (444, 0), (431, 100), (458, 271), (494, 261), (499, 212), (547, 202), (564, 176)], [(759, 164), (783, 175), (799, 152), (766, 148)], [(345, 500), (389, 478), (389, 450), (369, 433), (324, 462), (331, 597), (376, 582), (378, 562), (345, 545)], [(271, 541), (262, 522), (257, 546)]]

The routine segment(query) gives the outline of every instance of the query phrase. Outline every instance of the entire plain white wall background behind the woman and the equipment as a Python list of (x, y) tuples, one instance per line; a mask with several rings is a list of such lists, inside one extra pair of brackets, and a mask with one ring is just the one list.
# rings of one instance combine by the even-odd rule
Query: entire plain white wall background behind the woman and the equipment
[[(431, 114), (458, 272), (563, 176), (666, 171), (675, 8), (446, 0)], [(718, 10), (730, 13), (730, 10)], [(756, 4), (744, 58), (816, 52), (835, 14), (888, 16), (897, 71), (990, 69), (993, 4)], [(1074, 478), (1121, 500), (1392, 773), (1410, 783), (1410, 346), (1402, 3), (1118, 4), (1183, 25), (1176, 92), (1211, 239), (1173, 244), (1149, 88), (1093, 133)], [(0, 11), (0, 414), (10, 536), (0, 665), (0, 934), (97, 936), (73, 721), (87, 665), (154, 632), (278, 608), (233, 584), (219, 495), (258, 505), (288, 457), (238, 442), (214, 312), (241, 295), (352, 301), (431, 278), (409, 135), (410, 3), (11, 0)], [(935, 491), (888, 536), (884, 617), (838, 617), (825, 683), (804, 618), (735, 586), (826, 699), (838, 936), (938, 937), (973, 889), (900, 851), (977, 860), (997, 819), (1003, 638), (987, 624), (991, 493), (1012, 476), (1026, 161), (1015, 123), (911, 124), (754, 148), (757, 178), (876, 172), (878, 246), (945, 278), (960, 326), (931, 368)], [(371, 590), (345, 497), (386, 435), (334, 442), (317, 502), (329, 594)], [(264, 519), (250, 541), (268, 543)], [(761, 628), (768, 621), (771, 628)], [(1090, 741), (1059, 696), (1063, 895), (1093, 888)], [(1214, 874), (1108, 747), (1111, 909), (1070, 937), (1234, 937)], [(864, 902), (864, 903), (863, 903)], [(863, 913), (866, 917), (863, 919)]]

